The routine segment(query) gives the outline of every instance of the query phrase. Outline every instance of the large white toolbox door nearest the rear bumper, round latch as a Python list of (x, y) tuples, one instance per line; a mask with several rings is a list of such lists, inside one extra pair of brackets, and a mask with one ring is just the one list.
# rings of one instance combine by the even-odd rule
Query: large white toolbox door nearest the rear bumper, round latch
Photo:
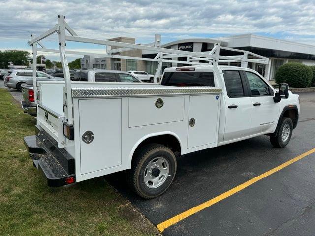
[(122, 102), (79, 100), (81, 174), (121, 165)]

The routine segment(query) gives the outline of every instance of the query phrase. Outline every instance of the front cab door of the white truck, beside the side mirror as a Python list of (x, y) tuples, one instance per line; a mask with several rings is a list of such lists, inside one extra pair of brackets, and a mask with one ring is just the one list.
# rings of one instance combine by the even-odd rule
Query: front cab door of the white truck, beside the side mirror
[(243, 74), (252, 102), (252, 133), (273, 131), (280, 108), (273, 100), (273, 90), (258, 74), (250, 71), (243, 71)]

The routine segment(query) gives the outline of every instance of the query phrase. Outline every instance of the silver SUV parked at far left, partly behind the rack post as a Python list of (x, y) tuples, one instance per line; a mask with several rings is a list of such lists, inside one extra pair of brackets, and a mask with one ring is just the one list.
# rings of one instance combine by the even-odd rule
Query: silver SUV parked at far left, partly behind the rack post
[[(37, 71), (36, 78), (38, 81), (63, 81), (63, 78), (53, 77), (45, 72)], [(32, 70), (13, 70), (11, 73), (6, 74), (4, 77), (4, 85), (9, 88), (21, 91), (22, 84), (33, 84), (33, 71)]]

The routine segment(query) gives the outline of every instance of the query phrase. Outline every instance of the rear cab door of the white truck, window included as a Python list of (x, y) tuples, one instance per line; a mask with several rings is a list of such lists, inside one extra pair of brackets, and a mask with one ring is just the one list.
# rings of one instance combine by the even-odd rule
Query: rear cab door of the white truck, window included
[(223, 70), (225, 88), (224, 141), (251, 135), (252, 101), (242, 71)]

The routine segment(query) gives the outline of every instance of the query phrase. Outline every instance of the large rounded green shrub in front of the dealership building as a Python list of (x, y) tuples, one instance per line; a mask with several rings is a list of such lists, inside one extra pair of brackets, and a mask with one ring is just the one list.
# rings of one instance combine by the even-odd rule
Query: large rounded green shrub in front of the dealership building
[(286, 63), (276, 71), (276, 83), (288, 83), (294, 88), (305, 88), (311, 84), (313, 72), (302, 63)]

